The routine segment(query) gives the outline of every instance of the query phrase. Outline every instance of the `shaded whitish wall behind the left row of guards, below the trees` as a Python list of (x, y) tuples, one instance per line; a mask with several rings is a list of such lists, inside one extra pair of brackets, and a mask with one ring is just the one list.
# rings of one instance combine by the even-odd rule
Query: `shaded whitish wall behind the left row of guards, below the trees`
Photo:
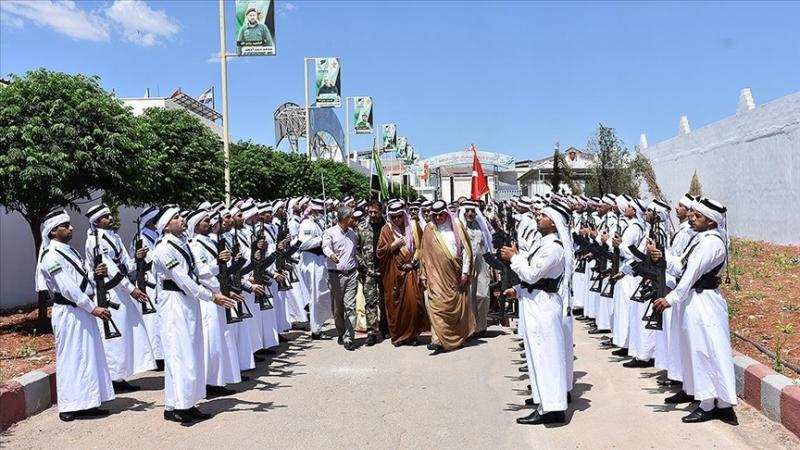
[[(81, 205), (81, 211), (67, 210), (72, 217), (72, 234), (70, 245), (81, 255), (84, 254), (86, 243), (86, 230), (89, 221), (85, 216), (86, 210), (97, 204), (98, 201)], [(0, 309), (13, 308), (19, 305), (36, 303), (34, 283), (34, 270), (36, 267), (33, 235), (28, 227), (28, 222), (20, 213), (9, 213), (5, 208), (0, 208)], [(130, 244), (136, 232), (138, 210), (120, 208), (119, 230), (125, 245)]]

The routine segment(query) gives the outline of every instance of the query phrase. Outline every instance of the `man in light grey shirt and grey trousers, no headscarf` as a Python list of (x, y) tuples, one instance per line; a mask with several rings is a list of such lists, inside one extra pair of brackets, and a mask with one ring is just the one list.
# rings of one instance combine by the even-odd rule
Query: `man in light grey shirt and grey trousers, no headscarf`
[(322, 235), (322, 253), (328, 258), (328, 283), (333, 300), (333, 320), (339, 343), (355, 350), (356, 291), (358, 288), (357, 236), (353, 208), (343, 206), (336, 213), (338, 223)]

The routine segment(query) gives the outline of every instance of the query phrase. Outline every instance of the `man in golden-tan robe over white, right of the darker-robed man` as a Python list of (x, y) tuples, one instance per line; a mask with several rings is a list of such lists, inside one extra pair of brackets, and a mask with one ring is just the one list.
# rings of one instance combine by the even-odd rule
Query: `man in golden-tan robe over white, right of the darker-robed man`
[(428, 290), (431, 321), (429, 350), (461, 347), (475, 331), (469, 303), (472, 247), (464, 225), (447, 211), (447, 203), (431, 205), (433, 223), (422, 233), (421, 279)]

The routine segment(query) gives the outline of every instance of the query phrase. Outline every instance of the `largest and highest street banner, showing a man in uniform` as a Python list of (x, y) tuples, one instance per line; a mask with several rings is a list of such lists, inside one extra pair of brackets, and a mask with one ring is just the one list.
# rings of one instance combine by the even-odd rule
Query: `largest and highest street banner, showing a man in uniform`
[(236, 48), (240, 56), (275, 56), (273, 0), (236, 0)]

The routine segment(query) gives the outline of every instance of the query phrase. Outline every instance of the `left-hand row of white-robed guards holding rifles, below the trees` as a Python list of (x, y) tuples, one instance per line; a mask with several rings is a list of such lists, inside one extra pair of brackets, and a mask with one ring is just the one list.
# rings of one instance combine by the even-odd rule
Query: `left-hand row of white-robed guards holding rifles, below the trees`
[[(221, 203), (205, 203), (193, 212), (173, 206), (148, 208), (138, 221), (143, 245), (129, 252), (113, 229), (110, 210), (98, 205), (87, 214), (91, 228), (85, 259), (69, 246), (70, 217), (64, 211), (48, 215), (37, 288), (49, 290), (54, 298), (62, 420), (107, 414), (98, 409), (100, 403), (112, 399), (115, 390), (138, 389), (126, 379), (157, 366), (165, 370), (166, 419), (189, 422), (210, 417), (196, 408), (199, 400), (233, 393), (224, 386), (246, 379), (241, 372), (253, 369), (262, 359), (255, 352), (277, 346), (279, 333), (289, 330), (292, 322), (308, 320), (304, 308), (307, 299), (315, 297), (310, 274), (303, 273), (302, 255), (307, 251), (302, 252), (300, 270), (293, 264), (278, 268), (272, 263), (265, 273), (276, 282), (265, 285), (253, 278), (257, 263), (253, 259), (268, 261), (266, 255), (286, 252), (292, 236), (300, 237), (293, 248), (313, 250), (308, 237), (316, 233), (303, 233), (303, 229), (316, 226), (313, 221), (301, 223), (296, 213), (303, 208), (321, 212), (322, 203), (301, 198), (286, 206), (290, 214), (283, 201), (237, 201), (230, 210)], [(235, 249), (238, 254), (232, 255)], [(144, 261), (147, 270), (144, 289), (131, 281), (137, 260)], [(243, 292), (222, 295), (218, 261), (239, 269), (241, 280), (230, 281), (234, 285), (239, 281)], [(290, 271), (306, 275), (303, 282), (288, 283), (293, 278)], [(110, 319), (111, 311), (92, 302), (94, 276), (103, 278), (108, 299), (119, 304), (112, 320), (120, 337), (101, 339), (98, 324)], [(279, 284), (291, 289), (278, 289)], [(271, 309), (262, 310), (255, 303), (255, 297), (264, 294), (277, 300)], [(154, 303), (157, 313), (143, 314), (137, 302)], [(252, 317), (228, 323), (228, 316), (235, 318), (236, 313), (226, 314), (225, 308), (237, 307), (238, 302), (248, 306)], [(314, 321), (319, 309), (315, 304), (320, 302), (311, 303), (312, 331), (318, 333), (324, 318)], [(160, 360), (164, 362), (159, 364)]]

